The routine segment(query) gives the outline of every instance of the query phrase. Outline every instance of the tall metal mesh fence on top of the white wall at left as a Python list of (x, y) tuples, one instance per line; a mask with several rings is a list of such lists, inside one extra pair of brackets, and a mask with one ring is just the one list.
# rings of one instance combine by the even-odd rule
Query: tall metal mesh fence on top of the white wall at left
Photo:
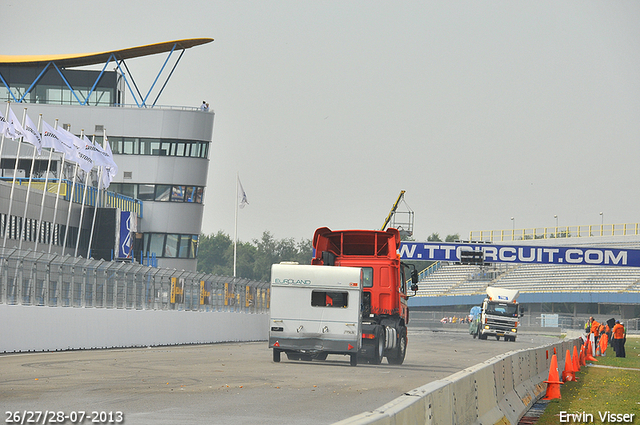
[(18, 249), (0, 256), (0, 304), (266, 313), (269, 282)]

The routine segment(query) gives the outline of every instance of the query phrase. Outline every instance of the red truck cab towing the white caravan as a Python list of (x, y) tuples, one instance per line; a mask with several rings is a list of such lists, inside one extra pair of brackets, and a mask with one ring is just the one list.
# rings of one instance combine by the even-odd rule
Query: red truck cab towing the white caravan
[[(335, 230), (319, 228), (313, 235), (312, 265), (361, 267), (362, 348), (361, 361), (402, 364), (407, 352), (408, 290), (418, 290), (415, 267), (400, 262), (397, 229)], [(407, 272), (411, 268), (411, 287)]]

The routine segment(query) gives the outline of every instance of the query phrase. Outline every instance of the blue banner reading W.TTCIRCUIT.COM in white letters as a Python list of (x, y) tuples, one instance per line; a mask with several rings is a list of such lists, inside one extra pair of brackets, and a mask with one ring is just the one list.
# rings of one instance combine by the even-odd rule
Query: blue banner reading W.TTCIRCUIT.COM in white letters
[(484, 251), (487, 263), (590, 264), (640, 267), (640, 250), (602, 247), (493, 245), (444, 242), (402, 242), (402, 260), (460, 261), (460, 251)]

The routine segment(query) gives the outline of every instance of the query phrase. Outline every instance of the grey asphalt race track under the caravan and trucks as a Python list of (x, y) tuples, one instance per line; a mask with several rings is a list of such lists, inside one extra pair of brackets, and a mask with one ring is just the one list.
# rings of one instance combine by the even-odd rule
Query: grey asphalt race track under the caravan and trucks
[[(557, 338), (480, 341), (410, 327), (401, 366), (272, 361), (266, 342), (0, 356), (3, 422), (12, 411), (122, 412), (125, 424), (330, 424), (495, 355)], [(40, 423), (42, 423), (42, 419)], [(66, 423), (70, 423), (67, 421)], [(103, 422), (104, 423), (104, 422)]]

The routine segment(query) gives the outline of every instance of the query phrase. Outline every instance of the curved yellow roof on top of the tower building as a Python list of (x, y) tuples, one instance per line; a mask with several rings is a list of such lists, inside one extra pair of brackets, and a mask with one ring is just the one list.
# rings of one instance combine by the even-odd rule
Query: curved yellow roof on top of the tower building
[(165, 41), (163, 43), (147, 44), (130, 47), (128, 49), (111, 50), (98, 53), (81, 53), (70, 55), (0, 55), (0, 65), (34, 66), (55, 62), (60, 68), (73, 68), (104, 64), (113, 54), (116, 60), (139, 58), (158, 53), (170, 52), (172, 49), (188, 49), (201, 44), (211, 43), (213, 38), (189, 38), (185, 40)]

